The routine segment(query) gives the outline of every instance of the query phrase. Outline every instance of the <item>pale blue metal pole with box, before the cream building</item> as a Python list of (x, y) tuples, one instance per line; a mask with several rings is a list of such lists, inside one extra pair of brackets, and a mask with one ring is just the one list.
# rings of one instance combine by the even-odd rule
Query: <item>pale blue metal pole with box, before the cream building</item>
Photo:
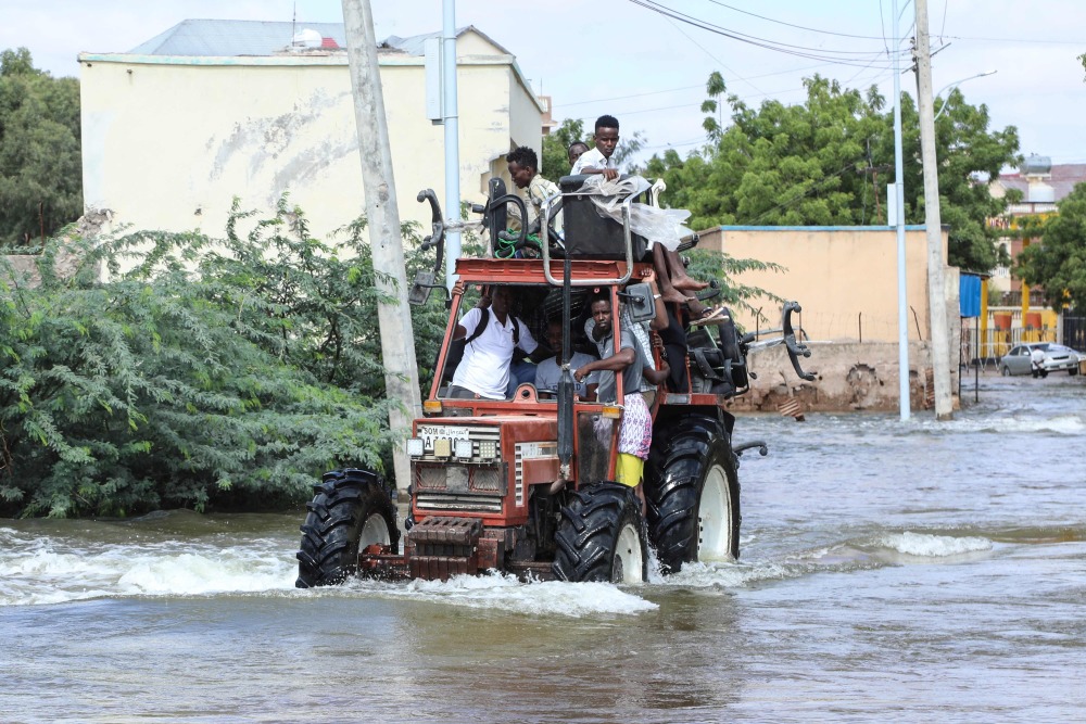
[[(460, 218), (460, 136), (456, 109), (456, 0), (443, 0), (441, 27), (441, 93), (445, 126), (445, 215)], [(456, 282), (456, 259), (460, 257), (460, 232), (445, 234), (445, 285)]]

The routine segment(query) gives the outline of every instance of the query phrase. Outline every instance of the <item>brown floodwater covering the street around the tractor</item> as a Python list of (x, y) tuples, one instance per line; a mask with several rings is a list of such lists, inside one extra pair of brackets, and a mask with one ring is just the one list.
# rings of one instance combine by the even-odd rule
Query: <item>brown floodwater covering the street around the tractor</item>
[(980, 396), (741, 418), (742, 561), (641, 586), (296, 590), (300, 515), (0, 521), (0, 719), (1081, 721), (1086, 380)]

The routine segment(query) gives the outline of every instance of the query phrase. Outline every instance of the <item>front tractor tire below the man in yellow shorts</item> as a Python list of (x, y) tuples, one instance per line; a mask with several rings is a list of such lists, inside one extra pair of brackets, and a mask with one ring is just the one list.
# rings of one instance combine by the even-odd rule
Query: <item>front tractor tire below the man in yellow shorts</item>
[(648, 541), (633, 488), (596, 483), (572, 493), (555, 534), (552, 570), (559, 581), (642, 583), (648, 576)]

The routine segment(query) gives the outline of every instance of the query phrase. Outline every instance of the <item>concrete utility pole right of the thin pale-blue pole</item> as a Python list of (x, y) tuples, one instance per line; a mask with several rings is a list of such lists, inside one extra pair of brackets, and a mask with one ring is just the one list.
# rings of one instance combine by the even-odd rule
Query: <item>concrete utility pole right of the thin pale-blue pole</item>
[(927, 31), (927, 0), (917, 8), (917, 103), (920, 110), (920, 155), (924, 164), (924, 226), (927, 229), (927, 296), (932, 325), (932, 369), (935, 418), (954, 417), (950, 401), (950, 332), (943, 275), (943, 219), (939, 212), (939, 173), (935, 157), (935, 112), (932, 99), (932, 48)]

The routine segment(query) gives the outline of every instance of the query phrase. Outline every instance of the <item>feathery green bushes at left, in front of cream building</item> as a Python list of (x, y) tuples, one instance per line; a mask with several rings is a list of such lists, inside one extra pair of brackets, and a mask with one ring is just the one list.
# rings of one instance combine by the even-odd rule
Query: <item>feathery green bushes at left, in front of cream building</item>
[[(382, 469), (365, 225), (333, 249), (286, 201), (249, 216), (218, 240), (50, 240), (38, 285), (0, 257), (0, 516), (296, 505), (327, 469)], [(432, 359), (440, 300), (417, 314)]]

